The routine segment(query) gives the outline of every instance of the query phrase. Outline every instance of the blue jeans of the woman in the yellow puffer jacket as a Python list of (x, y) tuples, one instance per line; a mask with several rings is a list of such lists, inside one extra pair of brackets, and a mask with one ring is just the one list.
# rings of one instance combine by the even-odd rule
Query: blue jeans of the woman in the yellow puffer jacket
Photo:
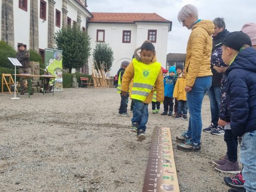
[(187, 92), (187, 105), (189, 112), (189, 125), (187, 136), (195, 144), (200, 143), (202, 133), (202, 102), (205, 93), (212, 85), (212, 76), (197, 77), (190, 92)]

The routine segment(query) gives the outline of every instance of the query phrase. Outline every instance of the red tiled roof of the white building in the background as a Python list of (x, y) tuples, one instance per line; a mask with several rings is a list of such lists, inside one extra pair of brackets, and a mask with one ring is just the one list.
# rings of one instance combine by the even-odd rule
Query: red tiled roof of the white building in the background
[(96, 13), (92, 12), (93, 18), (89, 22), (169, 22), (156, 13)]

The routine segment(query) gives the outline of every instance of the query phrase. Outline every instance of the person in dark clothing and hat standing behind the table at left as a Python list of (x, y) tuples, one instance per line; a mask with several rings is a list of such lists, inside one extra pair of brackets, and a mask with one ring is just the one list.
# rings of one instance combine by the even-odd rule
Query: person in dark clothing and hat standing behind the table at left
[[(18, 43), (18, 52), (16, 53), (16, 58), (20, 61), (22, 66), (18, 66), (19, 74), (31, 74), (31, 66), (29, 61), (29, 51), (27, 51), (27, 45), (23, 43)], [(25, 93), (25, 85), (23, 79), (20, 80), (20, 94)], [(34, 94), (31, 90), (30, 94)]]

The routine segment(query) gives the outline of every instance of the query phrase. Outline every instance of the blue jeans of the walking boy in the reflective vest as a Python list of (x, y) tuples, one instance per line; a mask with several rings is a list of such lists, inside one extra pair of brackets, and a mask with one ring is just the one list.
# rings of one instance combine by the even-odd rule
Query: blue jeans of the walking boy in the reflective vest
[(138, 130), (146, 131), (148, 123), (148, 104), (140, 100), (134, 99), (132, 123), (139, 124)]

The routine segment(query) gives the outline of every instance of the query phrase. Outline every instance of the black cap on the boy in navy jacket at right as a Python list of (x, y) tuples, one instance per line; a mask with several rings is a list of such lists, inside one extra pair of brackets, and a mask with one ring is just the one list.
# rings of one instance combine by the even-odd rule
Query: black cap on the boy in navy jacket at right
[(235, 31), (228, 34), (222, 41), (222, 45), (226, 45), (236, 51), (240, 51), (243, 45), (252, 46), (250, 37), (242, 31)]

